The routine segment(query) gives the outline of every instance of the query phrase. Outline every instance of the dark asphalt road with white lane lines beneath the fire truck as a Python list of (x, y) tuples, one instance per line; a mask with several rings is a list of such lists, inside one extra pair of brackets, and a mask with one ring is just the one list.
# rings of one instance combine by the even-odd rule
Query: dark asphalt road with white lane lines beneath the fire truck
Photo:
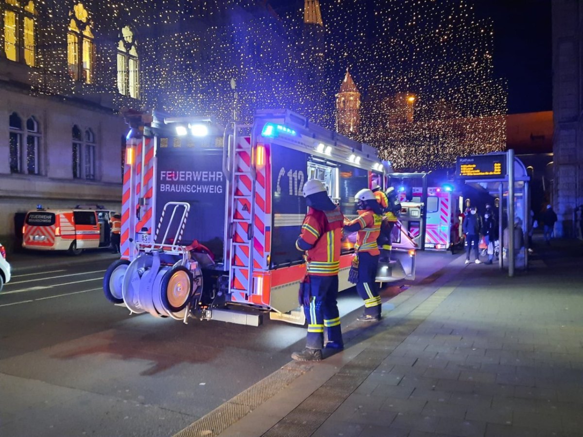
[[(453, 258), (419, 253), (415, 283)], [(110, 262), (43, 267), (40, 260), (37, 269), (16, 272), (6, 284), (0, 294), (1, 436), (172, 435), (304, 347), (303, 328), (268, 317), (250, 327), (131, 316), (103, 297)], [(398, 291), (392, 286), (383, 295)], [(362, 301), (356, 292), (342, 292), (339, 306), (347, 325)]]

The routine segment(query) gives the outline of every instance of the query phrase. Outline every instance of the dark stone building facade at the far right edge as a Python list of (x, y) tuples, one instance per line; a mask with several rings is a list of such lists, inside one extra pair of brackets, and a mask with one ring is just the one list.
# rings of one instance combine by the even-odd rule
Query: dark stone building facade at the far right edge
[(583, 203), (583, 0), (553, 0), (553, 209), (557, 235), (573, 236)]

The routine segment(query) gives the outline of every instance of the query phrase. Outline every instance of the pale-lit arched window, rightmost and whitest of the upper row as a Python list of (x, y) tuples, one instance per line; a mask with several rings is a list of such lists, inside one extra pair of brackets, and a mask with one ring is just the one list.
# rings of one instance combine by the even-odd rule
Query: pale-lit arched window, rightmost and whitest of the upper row
[(117, 44), (117, 89), (120, 94), (140, 98), (139, 73), (138, 43), (134, 31), (125, 26)]

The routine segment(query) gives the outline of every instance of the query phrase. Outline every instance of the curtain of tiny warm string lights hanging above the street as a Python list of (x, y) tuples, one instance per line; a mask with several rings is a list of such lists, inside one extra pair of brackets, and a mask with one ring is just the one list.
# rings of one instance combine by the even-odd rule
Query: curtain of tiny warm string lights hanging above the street
[[(38, 93), (107, 93), (117, 106), (215, 114), (224, 123), (234, 110), (248, 122), (256, 109), (289, 108), (334, 129), (334, 96), (349, 67), (362, 94), (353, 137), (395, 168), (448, 167), (505, 146), (507, 93), (493, 73), (493, 30), (471, 1), (321, 0), (318, 26), (304, 24), (301, 0), (276, 11), (263, 0), (84, 0), (95, 43), (91, 84), (67, 74), (78, 2), (36, 3)], [(117, 92), (124, 26), (138, 41), (141, 101)]]

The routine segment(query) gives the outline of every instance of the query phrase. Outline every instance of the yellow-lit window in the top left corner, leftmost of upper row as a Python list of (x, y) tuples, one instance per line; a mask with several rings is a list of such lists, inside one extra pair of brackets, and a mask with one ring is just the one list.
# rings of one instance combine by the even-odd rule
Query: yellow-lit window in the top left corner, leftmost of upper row
[[(0, 0), (1, 1), (1, 0)], [(34, 2), (4, 0), (4, 53), (10, 61), (35, 65)]]

